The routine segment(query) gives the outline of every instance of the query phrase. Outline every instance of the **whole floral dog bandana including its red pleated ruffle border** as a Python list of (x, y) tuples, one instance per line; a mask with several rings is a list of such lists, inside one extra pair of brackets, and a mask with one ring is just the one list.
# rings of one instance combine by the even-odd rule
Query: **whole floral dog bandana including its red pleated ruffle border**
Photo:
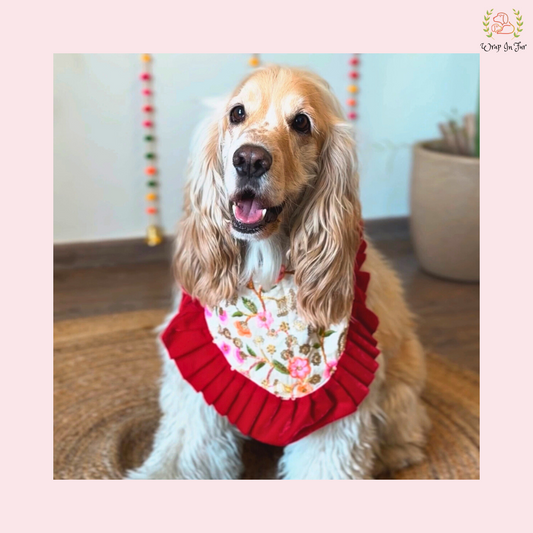
[(298, 315), (290, 271), (263, 291), (250, 282), (231, 301), (204, 308), (184, 293), (162, 334), (183, 378), (244, 434), (286, 446), (354, 413), (379, 354), (378, 319), (365, 305), (370, 275), (361, 241), (350, 320), (327, 329)]

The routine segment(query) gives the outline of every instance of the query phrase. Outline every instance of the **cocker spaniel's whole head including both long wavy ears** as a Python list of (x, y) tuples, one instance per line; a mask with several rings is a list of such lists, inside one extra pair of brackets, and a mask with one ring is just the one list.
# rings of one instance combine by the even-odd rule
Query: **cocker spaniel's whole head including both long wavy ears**
[(287, 236), (300, 312), (315, 325), (349, 314), (359, 238), (355, 146), (327, 83), (266, 67), (200, 132), (175, 256), (203, 304), (231, 298), (246, 241)]

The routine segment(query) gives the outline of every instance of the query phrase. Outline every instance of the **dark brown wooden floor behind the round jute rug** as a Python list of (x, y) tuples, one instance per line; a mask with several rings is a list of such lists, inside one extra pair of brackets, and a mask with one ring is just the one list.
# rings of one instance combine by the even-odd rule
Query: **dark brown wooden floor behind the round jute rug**
[[(426, 349), (479, 371), (479, 285), (425, 274), (405, 237), (380, 234), (374, 242), (403, 280), (407, 300), (419, 318), (419, 333)], [(166, 309), (171, 287), (166, 260), (56, 269), (54, 319)]]

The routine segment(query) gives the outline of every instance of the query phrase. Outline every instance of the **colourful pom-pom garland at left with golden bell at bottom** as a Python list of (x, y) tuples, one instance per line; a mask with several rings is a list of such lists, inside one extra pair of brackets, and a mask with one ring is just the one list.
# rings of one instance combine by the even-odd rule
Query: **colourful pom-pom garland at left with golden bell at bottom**
[(153, 105), (153, 89), (152, 89), (152, 56), (150, 54), (142, 54), (141, 62), (143, 65), (140, 75), (142, 82), (143, 95), (143, 121), (142, 125), (145, 129), (144, 143), (145, 153), (144, 157), (147, 160), (147, 165), (144, 173), (148, 176), (146, 186), (148, 192), (146, 199), (146, 213), (148, 215), (148, 228), (146, 230), (146, 243), (148, 246), (157, 246), (163, 242), (163, 231), (160, 225), (159, 214), (159, 181), (158, 171), (155, 163), (155, 123), (154, 123), (154, 105)]

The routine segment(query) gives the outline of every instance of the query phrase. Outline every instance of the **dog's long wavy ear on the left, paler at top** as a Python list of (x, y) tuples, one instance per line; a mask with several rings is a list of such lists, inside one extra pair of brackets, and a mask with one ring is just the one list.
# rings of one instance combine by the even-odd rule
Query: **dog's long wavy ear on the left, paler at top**
[(218, 114), (197, 130), (191, 150), (183, 217), (174, 253), (177, 282), (202, 305), (233, 296), (240, 251), (229, 232)]

